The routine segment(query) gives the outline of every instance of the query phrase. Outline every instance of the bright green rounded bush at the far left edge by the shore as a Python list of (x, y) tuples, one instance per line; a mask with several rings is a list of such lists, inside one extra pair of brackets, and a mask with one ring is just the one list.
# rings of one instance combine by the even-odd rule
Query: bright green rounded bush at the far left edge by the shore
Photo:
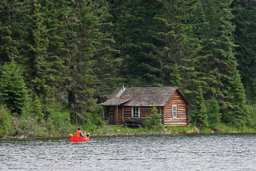
[(12, 116), (10, 110), (0, 105), (0, 137), (5, 135), (13, 135), (14, 128), (12, 124)]

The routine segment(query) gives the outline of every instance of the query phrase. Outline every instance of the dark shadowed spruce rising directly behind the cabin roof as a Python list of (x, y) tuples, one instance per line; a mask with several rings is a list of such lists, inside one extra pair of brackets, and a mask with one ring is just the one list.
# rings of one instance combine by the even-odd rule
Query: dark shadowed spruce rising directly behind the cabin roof
[(153, 18), (155, 15), (163, 16), (162, 8), (165, 6), (164, 1), (150, 0), (144, 3), (138, 0), (127, 1), (112, 10), (113, 24), (117, 30), (115, 41), (120, 50), (118, 57), (124, 60), (120, 66), (120, 76), (128, 87), (152, 87), (156, 86), (155, 83), (163, 86), (160, 78), (162, 42), (156, 37), (158, 28)]

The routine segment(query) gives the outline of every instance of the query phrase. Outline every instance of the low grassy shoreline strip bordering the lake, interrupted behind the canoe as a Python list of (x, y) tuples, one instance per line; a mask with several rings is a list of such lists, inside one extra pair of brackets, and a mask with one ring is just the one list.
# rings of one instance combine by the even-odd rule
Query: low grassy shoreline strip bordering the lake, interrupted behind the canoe
[[(83, 126), (82, 126), (83, 127)], [(210, 128), (199, 130), (196, 127), (165, 127), (163, 130), (160, 129), (146, 129), (146, 128), (129, 128), (121, 125), (108, 125), (103, 128), (96, 128), (93, 130), (87, 129), (87, 133), (90, 133), (90, 137), (103, 137), (103, 136), (153, 136), (153, 135), (178, 135), (178, 134), (256, 134), (253, 128), (230, 128), (226, 131), (223, 128), (218, 128), (217, 131), (213, 131)], [(232, 130), (233, 129), (233, 130)], [(84, 128), (86, 130), (86, 128)], [(240, 130), (240, 131), (239, 131)], [(242, 131), (241, 131), (242, 130)], [(212, 132), (213, 131), (213, 132)], [(31, 132), (27, 135), (18, 134), (16, 136), (4, 136), (0, 139), (30, 139), (30, 138), (54, 138), (54, 137), (68, 137), (67, 133), (55, 132), (54, 134), (47, 133), (34, 133)]]

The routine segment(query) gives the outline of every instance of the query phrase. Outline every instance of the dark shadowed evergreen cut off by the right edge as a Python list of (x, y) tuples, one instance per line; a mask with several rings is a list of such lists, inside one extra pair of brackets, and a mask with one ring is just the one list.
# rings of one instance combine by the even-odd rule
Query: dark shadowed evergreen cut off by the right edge
[(238, 63), (241, 81), (246, 89), (247, 97), (256, 102), (256, 1), (234, 0), (231, 4), (236, 25), (234, 30), (234, 57)]

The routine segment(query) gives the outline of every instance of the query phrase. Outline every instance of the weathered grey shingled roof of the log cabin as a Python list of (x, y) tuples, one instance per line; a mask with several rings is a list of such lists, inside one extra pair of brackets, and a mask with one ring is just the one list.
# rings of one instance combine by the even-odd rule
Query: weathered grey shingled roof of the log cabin
[(177, 87), (126, 88), (124, 90), (117, 88), (106, 102), (99, 105), (163, 106), (176, 89)]

